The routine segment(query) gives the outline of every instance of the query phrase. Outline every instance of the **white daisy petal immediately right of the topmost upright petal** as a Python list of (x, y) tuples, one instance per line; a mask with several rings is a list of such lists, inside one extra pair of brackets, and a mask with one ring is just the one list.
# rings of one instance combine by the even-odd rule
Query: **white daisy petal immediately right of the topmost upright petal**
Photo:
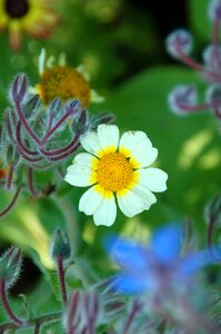
[(134, 148), (145, 138), (148, 137), (143, 131), (124, 132), (120, 139), (119, 150), (127, 151), (127, 157), (130, 157)]

